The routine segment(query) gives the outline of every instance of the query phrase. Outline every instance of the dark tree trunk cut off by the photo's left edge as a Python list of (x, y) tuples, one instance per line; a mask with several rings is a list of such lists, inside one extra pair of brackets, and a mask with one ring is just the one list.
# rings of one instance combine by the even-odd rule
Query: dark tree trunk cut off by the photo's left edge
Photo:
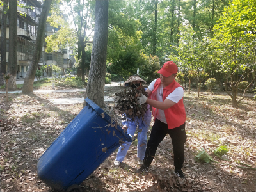
[[(4, 0), (4, 3), (8, 4), (8, 0)], [(2, 11), (2, 20), (1, 20), (1, 65), (0, 65), (0, 85), (5, 84), (5, 79), (3, 74), (6, 74), (6, 20), (7, 14), (4, 13), (7, 5), (4, 4)]]

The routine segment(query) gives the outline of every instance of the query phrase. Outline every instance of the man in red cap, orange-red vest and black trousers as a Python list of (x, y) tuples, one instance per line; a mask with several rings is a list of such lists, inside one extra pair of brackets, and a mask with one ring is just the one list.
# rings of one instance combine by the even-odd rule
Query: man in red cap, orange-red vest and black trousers
[(149, 97), (141, 95), (138, 103), (147, 103), (152, 106), (155, 123), (152, 127), (143, 165), (138, 173), (148, 172), (156, 154), (157, 147), (163, 141), (166, 134), (172, 138), (173, 159), (175, 171), (179, 177), (184, 177), (181, 170), (184, 163), (184, 144), (186, 142), (185, 121), (186, 112), (183, 104), (184, 89), (175, 81), (178, 67), (172, 61), (164, 63), (159, 79), (155, 79), (148, 86)]

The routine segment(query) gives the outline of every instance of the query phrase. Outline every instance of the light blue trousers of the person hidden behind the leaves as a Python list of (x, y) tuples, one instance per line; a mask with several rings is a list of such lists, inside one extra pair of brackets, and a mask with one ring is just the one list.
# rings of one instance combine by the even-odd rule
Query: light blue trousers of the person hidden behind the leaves
[[(137, 157), (140, 158), (140, 160), (142, 161), (144, 159), (145, 151), (146, 151), (146, 147), (147, 147), (147, 132), (148, 132), (149, 124), (144, 125), (141, 118), (134, 122), (130, 122), (128, 129), (127, 129), (127, 133), (130, 134), (131, 136), (134, 136), (137, 125), (139, 127), (138, 138), (137, 138), (137, 140), (138, 140)], [(131, 146), (131, 142), (125, 142), (124, 144), (122, 144), (119, 147), (118, 153), (116, 156), (117, 161), (120, 161), (120, 162), (124, 161), (124, 158), (127, 154), (127, 151), (129, 150), (130, 146)]]

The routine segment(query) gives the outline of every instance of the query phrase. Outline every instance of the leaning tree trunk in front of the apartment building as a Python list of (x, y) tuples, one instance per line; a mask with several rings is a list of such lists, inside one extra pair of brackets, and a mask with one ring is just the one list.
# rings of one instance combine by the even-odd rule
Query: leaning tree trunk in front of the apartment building
[(42, 47), (44, 44), (44, 31), (45, 24), (49, 14), (52, 0), (45, 0), (42, 8), (42, 12), (38, 23), (38, 32), (36, 37), (35, 53), (33, 54), (32, 62), (29, 65), (26, 77), (24, 79), (24, 84), (22, 86), (22, 93), (33, 92), (33, 83), (35, 79), (36, 70), (38, 67), (40, 54), (42, 52)]

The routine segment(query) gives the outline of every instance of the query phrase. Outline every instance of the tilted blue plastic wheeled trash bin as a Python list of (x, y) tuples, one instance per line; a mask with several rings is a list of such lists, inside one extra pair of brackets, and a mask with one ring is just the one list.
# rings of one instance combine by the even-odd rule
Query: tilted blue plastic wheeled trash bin
[(118, 148), (132, 139), (92, 100), (38, 159), (37, 175), (58, 191), (79, 185)]

